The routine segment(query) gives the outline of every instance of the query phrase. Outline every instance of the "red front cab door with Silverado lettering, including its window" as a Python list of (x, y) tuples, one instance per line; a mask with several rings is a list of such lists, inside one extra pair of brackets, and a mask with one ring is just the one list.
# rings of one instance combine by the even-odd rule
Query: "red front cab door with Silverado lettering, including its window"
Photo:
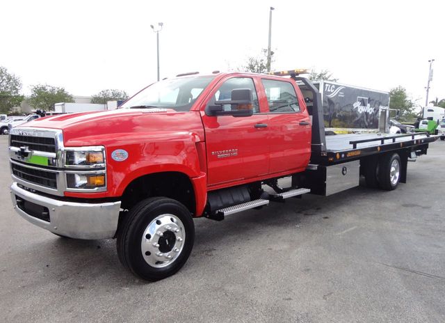
[[(207, 116), (205, 106), (230, 100), (232, 90), (250, 88), (254, 100), (252, 116)], [(207, 184), (224, 187), (266, 175), (269, 168), (268, 115), (260, 114), (257, 89), (252, 77), (228, 77), (214, 88), (201, 109), (206, 137)], [(232, 109), (225, 104), (224, 109)]]

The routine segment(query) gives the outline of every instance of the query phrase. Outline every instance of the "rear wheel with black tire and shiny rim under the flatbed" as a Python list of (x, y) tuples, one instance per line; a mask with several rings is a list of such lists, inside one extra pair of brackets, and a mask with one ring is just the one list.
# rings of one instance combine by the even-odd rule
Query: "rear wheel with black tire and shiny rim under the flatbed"
[(401, 173), (401, 157), (397, 153), (383, 156), (380, 159), (378, 170), (380, 188), (387, 191), (396, 189), (401, 180)]

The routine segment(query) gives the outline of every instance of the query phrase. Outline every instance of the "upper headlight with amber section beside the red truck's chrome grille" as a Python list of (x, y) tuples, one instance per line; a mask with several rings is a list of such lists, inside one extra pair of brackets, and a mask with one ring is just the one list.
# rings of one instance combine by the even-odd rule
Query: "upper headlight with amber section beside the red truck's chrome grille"
[(105, 166), (105, 155), (103, 147), (82, 147), (76, 150), (67, 148), (65, 152), (65, 165), (98, 167)]

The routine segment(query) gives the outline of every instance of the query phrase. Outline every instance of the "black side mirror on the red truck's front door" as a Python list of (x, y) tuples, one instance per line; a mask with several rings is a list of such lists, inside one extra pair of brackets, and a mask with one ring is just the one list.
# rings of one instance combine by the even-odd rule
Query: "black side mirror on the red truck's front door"
[[(224, 110), (225, 104), (230, 104), (229, 111)], [(250, 88), (236, 88), (232, 90), (230, 101), (216, 101), (215, 105), (206, 107), (207, 116), (234, 116), (248, 117), (252, 116), (253, 96)]]

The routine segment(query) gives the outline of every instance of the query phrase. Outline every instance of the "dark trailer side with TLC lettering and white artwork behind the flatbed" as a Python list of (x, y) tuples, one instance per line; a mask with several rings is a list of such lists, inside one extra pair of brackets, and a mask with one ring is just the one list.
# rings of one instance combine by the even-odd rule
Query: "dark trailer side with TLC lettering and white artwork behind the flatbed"
[(320, 81), (325, 127), (378, 129), (379, 111), (389, 106), (389, 93)]

